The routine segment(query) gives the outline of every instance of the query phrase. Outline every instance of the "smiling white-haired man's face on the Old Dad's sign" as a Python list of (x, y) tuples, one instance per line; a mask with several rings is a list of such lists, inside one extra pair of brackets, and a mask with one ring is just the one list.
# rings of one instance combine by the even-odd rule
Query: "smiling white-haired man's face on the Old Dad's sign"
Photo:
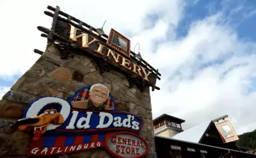
[(108, 88), (104, 86), (95, 86), (89, 93), (90, 100), (92, 100), (94, 106), (99, 107), (108, 99), (108, 93)]

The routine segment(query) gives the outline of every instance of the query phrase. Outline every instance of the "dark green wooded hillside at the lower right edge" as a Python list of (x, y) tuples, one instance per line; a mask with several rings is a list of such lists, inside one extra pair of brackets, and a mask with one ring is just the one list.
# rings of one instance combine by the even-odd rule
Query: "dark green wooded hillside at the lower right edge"
[(246, 132), (238, 136), (239, 141), (237, 141), (238, 146), (244, 148), (250, 148), (251, 150), (256, 149), (256, 129), (252, 132)]

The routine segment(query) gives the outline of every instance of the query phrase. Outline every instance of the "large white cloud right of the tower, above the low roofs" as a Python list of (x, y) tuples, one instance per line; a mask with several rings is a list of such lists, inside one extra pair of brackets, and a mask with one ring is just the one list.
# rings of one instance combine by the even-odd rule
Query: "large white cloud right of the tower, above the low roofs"
[[(162, 90), (152, 95), (153, 109), (164, 105), (154, 116), (165, 111), (184, 118), (185, 127), (191, 127), (228, 114), (239, 133), (256, 129), (256, 93), (247, 92), (256, 76), (256, 56), (247, 52), (253, 45), (241, 42), (234, 30), (220, 24), (221, 16), (217, 14), (191, 25), (188, 36), (182, 40), (159, 45), (154, 57), (157, 66), (166, 77), (174, 77), (162, 81)], [(222, 64), (198, 67), (223, 56), (229, 58)], [(246, 123), (252, 125), (244, 128)]]

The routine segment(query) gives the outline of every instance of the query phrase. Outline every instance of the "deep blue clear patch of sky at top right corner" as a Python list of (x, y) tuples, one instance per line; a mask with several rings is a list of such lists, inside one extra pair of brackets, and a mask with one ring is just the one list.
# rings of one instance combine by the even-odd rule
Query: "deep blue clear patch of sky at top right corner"
[(177, 39), (188, 35), (189, 26), (216, 13), (222, 13), (225, 22), (237, 30), (237, 36), (246, 41), (256, 40), (256, 3), (254, 1), (188, 1), (184, 18), (176, 28)]

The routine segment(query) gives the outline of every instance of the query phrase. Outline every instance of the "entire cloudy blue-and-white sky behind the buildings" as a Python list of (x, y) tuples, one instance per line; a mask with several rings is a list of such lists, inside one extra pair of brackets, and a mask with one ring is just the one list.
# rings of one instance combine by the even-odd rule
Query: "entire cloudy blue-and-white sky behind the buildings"
[[(40, 58), (50, 28), (47, 5), (60, 6), (94, 28), (140, 42), (161, 73), (150, 93), (153, 117), (166, 113), (188, 129), (228, 115), (237, 134), (256, 129), (256, 3), (253, 0), (0, 1), (0, 98)], [(13, 31), (13, 32), (12, 32)], [(135, 52), (138, 52), (138, 47)]]

